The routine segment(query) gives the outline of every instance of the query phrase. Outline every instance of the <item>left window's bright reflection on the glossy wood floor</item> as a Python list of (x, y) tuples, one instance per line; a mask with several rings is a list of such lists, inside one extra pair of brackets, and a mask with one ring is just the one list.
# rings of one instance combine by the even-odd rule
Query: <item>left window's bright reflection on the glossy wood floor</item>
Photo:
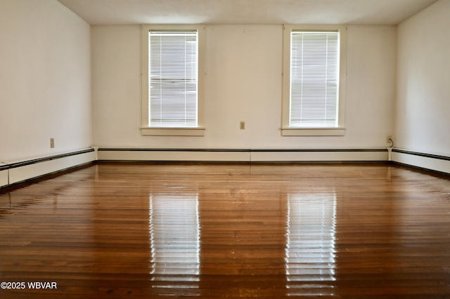
[(150, 194), (151, 279), (158, 295), (200, 295), (198, 194)]

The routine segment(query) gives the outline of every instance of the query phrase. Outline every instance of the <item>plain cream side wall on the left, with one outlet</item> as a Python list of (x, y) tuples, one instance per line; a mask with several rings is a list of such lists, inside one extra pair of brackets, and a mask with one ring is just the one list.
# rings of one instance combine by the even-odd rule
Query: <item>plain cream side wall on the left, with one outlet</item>
[(90, 26), (56, 0), (0, 0), (0, 45), (0, 161), (90, 147)]

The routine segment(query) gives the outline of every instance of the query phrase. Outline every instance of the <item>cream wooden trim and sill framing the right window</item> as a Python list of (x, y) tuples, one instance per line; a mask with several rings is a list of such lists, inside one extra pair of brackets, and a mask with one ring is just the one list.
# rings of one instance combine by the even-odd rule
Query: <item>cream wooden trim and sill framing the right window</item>
[[(330, 30), (340, 32), (340, 83), (338, 126), (331, 128), (294, 128), (290, 115), (290, 33), (293, 30)], [(347, 27), (345, 25), (283, 25), (283, 100), (281, 135), (283, 136), (342, 136), (345, 135), (345, 77), (347, 74)]]

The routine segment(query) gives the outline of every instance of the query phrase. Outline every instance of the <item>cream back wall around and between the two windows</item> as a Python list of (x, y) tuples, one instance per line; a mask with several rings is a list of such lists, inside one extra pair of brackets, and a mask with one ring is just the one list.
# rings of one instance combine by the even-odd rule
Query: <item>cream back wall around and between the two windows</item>
[[(93, 26), (94, 145), (373, 148), (392, 135), (397, 29), (348, 29), (343, 137), (282, 137), (282, 25), (207, 25), (204, 137), (142, 136), (139, 26)], [(239, 122), (245, 121), (245, 130)]]

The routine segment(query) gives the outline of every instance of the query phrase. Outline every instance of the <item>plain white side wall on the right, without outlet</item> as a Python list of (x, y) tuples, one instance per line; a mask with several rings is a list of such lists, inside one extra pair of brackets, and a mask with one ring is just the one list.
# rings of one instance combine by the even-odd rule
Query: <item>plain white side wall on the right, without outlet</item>
[(395, 147), (450, 157), (450, 0), (399, 25)]

